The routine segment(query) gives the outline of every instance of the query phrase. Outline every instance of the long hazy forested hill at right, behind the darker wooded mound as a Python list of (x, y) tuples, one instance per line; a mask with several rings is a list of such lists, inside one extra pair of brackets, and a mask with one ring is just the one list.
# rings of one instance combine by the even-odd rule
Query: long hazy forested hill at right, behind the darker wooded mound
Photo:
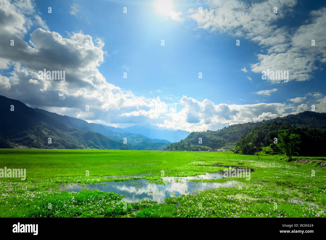
[[(207, 130), (206, 132), (192, 132), (184, 140), (172, 143), (166, 149), (181, 151), (198, 151), (198, 149), (209, 150), (219, 148), (233, 149), (235, 143), (244, 133), (249, 133), (249, 131), (255, 127), (262, 126), (266, 123), (272, 123), (274, 121), (287, 122), (289, 125), (296, 125), (299, 127), (326, 130), (326, 113), (304, 111), (298, 114), (290, 114), (286, 117), (278, 117), (271, 120), (234, 124), (218, 131)], [(199, 143), (200, 137), (202, 138), (201, 144)]]

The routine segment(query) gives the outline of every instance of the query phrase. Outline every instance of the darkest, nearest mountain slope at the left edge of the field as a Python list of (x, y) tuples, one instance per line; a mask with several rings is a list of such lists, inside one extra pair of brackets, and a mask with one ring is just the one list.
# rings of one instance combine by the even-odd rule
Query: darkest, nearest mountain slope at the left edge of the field
[(1, 148), (130, 149), (103, 134), (69, 127), (18, 100), (0, 96), (0, 111)]

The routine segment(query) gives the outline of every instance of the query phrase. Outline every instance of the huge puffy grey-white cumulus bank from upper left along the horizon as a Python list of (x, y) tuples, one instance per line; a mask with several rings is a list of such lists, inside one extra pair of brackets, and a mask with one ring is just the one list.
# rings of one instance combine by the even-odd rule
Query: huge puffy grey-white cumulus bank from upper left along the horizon
[[(99, 71), (104, 62), (104, 40), (82, 32), (63, 37), (45, 27), (37, 28), (45, 22), (40, 16), (35, 21), (34, 13), (32, 1), (22, 5), (0, 0), (0, 67), (12, 69), (6, 76), (0, 74), (0, 94), (29, 106), (111, 126), (141, 124), (187, 131), (216, 130), (307, 109), (307, 105), (297, 107), (292, 102), (215, 104), (208, 99), (200, 102), (183, 96), (177, 103), (171, 98), (166, 103), (159, 97), (135, 96), (130, 90), (111, 84)], [(26, 36), (27, 32), (30, 35)], [(15, 47), (8, 48), (8, 39), (15, 39)], [(65, 71), (66, 81), (39, 79), (38, 72), (43, 69)], [(325, 102), (325, 98), (320, 98), (316, 109), (325, 108)], [(85, 111), (86, 105), (90, 111)]]

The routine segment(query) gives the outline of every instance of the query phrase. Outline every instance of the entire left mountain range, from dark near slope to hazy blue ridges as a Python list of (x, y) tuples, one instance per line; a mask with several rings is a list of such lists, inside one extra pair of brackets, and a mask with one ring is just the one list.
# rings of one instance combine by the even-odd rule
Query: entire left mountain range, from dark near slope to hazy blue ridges
[[(62, 116), (0, 96), (0, 148), (161, 150), (171, 142)], [(11, 105), (13, 110), (10, 111)], [(49, 138), (51, 138), (51, 143)], [(126, 144), (124, 143), (126, 139)]]

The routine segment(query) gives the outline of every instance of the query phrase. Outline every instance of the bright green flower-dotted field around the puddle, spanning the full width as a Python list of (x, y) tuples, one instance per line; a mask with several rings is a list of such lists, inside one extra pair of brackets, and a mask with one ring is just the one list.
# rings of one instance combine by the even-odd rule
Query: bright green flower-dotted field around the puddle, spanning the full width
[[(136, 179), (165, 184), (162, 171), (177, 178), (220, 172), (228, 166), (252, 169), (250, 180), (193, 179), (199, 184), (232, 180), (239, 184), (169, 197), (164, 202), (129, 203), (113, 192), (60, 190), (61, 184)], [(287, 162), (279, 155), (0, 149), (0, 168), (5, 167), (25, 168), (27, 179), (0, 179), (2, 217), (325, 217), (325, 168)], [(117, 177), (104, 178), (111, 175)]]

